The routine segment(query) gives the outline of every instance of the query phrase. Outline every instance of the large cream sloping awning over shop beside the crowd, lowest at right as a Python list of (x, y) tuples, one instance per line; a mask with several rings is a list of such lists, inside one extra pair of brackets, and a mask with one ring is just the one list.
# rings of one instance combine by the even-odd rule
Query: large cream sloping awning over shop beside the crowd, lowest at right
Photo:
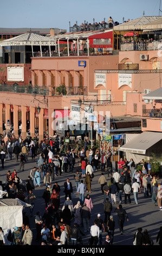
[(162, 132), (142, 132), (130, 142), (120, 147), (120, 151), (146, 154), (146, 150), (162, 139)]

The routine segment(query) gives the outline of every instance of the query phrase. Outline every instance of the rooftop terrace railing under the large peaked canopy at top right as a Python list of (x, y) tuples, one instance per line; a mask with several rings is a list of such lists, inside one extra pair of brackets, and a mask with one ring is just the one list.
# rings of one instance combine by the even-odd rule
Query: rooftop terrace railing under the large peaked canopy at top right
[(121, 44), (121, 51), (155, 51), (160, 50), (162, 41), (152, 42), (125, 42)]

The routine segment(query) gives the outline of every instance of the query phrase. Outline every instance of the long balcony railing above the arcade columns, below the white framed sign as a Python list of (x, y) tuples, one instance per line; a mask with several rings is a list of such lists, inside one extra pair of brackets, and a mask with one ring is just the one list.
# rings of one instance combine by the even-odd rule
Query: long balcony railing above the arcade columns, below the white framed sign
[(20, 84), (0, 84), (0, 92), (7, 93), (26, 93), (33, 94), (36, 92), (38, 95), (48, 95), (48, 87), (45, 86), (30, 86), (30, 85), (20, 85)]

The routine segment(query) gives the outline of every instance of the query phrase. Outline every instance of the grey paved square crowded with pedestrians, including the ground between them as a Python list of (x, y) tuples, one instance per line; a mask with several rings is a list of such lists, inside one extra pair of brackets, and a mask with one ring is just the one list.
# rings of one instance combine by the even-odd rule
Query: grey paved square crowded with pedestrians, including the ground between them
[[(5, 153), (5, 161), (0, 171), (1, 186), (2, 190), (8, 192), (8, 198), (19, 198), (31, 204), (30, 209), (25, 209), (23, 214), (23, 226), (31, 230), (32, 245), (105, 245), (106, 237), (108, 245), (133, 245), (138, 228), (147, 229), (156, 243), (161, 206), (158, 198), (152, 197), (150, 186), (146, 186), (145, 173), (146, 176), (150, 175), (147, 183), (150, 180), (151, 188), (157, 182), (160, 185), (161, 179), (151, 176), (148, 164), (146, 166), (143, 163), (146, 168), (141, 178), (141, 172), (137, 172), (132, 160), (124, 163), (127, 166), (122, 168), (120, 159), (119, 169), (113, 172), (107, 164), (102, 165), (100, 153), (95, 154), (89, 164), (89, 157), (83, 156), (84, 149), (82, 157), (75, 155), (72, 149), (62, 156), (53, 154), (49, 138), (41, 145), (35, 139), (29, 139), (24, 144), (20, 137), (15, 140), (14, 146), (12, 140), (7, 137), (2, 140), (1, 153)], [(9, 154), (10, 145), (12, 150)], [(33, 152), (35, 147), (37, 150)], [(84, 161), (85, 169), (82, 165)], [(123, 176), (127, 180), (122, 180)], [(132, 188), (137, 180), (140, 186), (138, 204)], [(129, 197), (125, 198), (128, 193), (125, 185), (131, 185), (130, 201)], [(119, 226), (119, 210), (126, 212), (122, 227)], [(107, 229), (110, 224), (114, 230)], [(74, 235), (74, 229), (77, 230), (77, 236)], [(98, 239), (93, 238), (96, 230)], [(21, 233), (22, 227), (16, 227), (13, 230), (15, 232)], [(20, 244), (24, 243), (22, 237)]]

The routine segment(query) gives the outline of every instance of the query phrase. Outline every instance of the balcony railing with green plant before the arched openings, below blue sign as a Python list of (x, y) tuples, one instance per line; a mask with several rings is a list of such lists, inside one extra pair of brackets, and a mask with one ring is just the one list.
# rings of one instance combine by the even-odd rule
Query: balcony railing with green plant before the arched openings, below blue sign
[(87, 95), (87, 87), (65, 87), (63, 93), (57, 92), (57, 88), (59, 87), (52, 87), (51, 95), (62, 95), (62, 96)]

